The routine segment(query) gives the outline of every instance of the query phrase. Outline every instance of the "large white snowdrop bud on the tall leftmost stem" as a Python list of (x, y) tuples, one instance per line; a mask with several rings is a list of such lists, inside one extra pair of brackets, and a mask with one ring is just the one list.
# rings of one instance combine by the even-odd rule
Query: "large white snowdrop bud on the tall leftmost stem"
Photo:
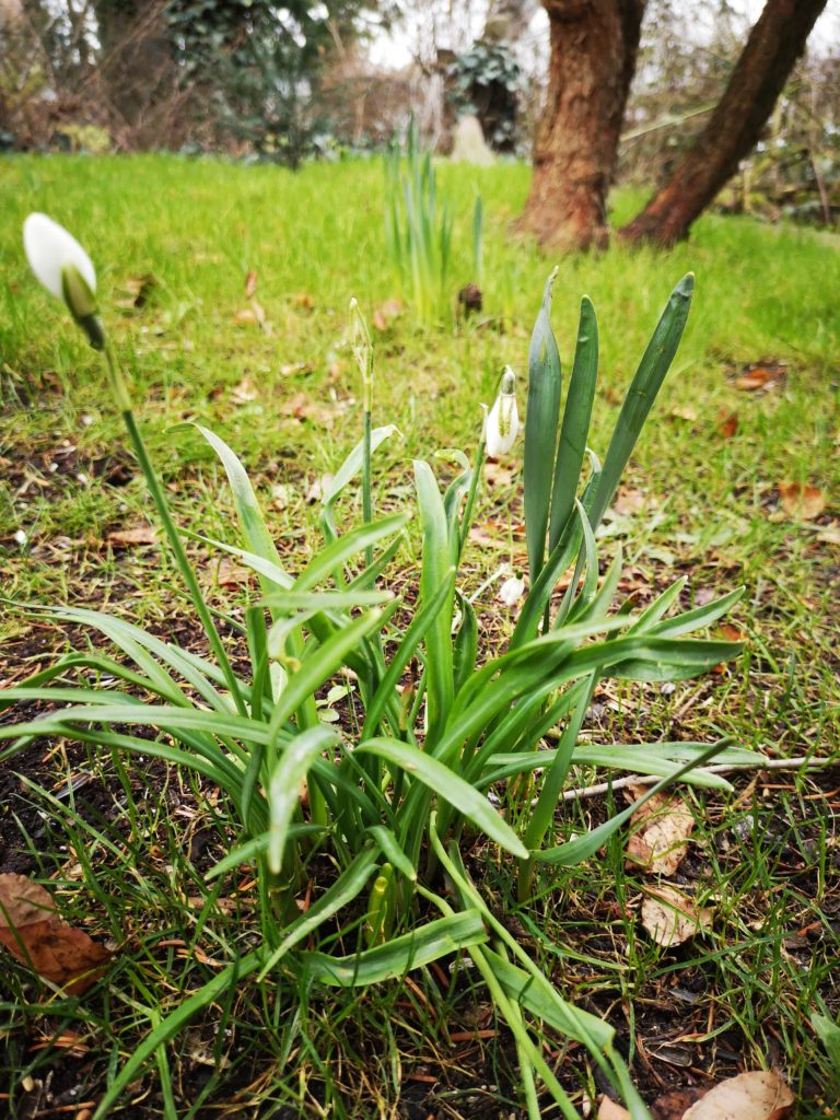
[(96, 271), (73, 234), (46, 214), (30, 214), (24, 222), (24, 249), (36, 278), (64, 300), (91, 346), (102, 349), (105, 338), (96, 315)]

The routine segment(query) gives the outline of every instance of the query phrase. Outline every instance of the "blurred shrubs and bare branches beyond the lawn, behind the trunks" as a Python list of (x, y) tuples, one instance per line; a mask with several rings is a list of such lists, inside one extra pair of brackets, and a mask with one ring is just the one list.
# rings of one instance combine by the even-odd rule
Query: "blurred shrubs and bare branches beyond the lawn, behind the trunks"
[[(668, 178), (726, 87), (750, 15), (727, 0), (650, 0), (619, 179)], [(495, 152), (528, 157), (547, 58), (535, 0), (0, 0), (0, 146), (297, 167), (380, 150), (411, 118), (447, 152), (472, 113)], [(840, 50), (823, 34), (718, 205), (830, 225), (839, 169)]]

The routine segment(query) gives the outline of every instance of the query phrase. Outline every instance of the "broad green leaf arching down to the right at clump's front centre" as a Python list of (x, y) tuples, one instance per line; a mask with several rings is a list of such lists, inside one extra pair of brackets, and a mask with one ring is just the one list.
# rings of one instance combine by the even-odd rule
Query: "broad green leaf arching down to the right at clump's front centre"
[(422, 782), (513, 856), (520, 859), (528, 856), (525, 846), (487, 797), (437, 758), (408, 743), (385, 738), (368, 739), (356, 747), (356, 754), (365, 753), (384, 758), (391, 766), (399, 766), (410, 777)]

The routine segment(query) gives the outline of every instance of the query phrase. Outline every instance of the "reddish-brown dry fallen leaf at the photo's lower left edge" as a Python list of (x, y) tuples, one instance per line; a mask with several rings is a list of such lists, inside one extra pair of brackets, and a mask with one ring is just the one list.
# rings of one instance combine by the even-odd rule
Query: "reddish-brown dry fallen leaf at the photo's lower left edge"
[(90, 988), (111, 958), (84, 930), (64, 925), (49, 893), (25, 875), (0, 875), (0, 944), (72, 996)]

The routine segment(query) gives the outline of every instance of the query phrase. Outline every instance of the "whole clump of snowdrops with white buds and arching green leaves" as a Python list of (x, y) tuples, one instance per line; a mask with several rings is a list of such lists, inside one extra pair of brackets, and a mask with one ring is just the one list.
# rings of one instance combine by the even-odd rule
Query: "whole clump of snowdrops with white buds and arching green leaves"
[[(615, 609), (620, 557), (601, 578), (595, 544), (595, 530), (676, 351), (692, 278), (684, 278), (669, 299), (603, 460), (587, 447), (598, 366), (595, 312), (585, 298), (561, 409), (549, 280), (529, 354), (528, 591), (519, 577), (503, 589), (506, 603), (521, 605), (502, 651), (483, 647), (475, 608), (457, 576), (484, 455), (508, 454), (516, 446), (510, 370), (472, 464), (463, 456), (460, 473), (444, 488), (428, 461), (413, 465), (422, 559), (413, 586), (409, 581), (401, 595), (389, 589), (385, 575), (401, 551), (409, 512), (376, 516), (373, 508), (372, 457), (394, 428), (372, 424), (373, 347), (357, 306), (351, 318), (364, 388), (362, 439), (321, 498), (323, 545), (297, 575), (276, 548), (242, 463), (218, 436), (195, 426), (222, 461), (242, 535), (237, 545), (190, 535), (251, 568), (260, 587), (259, 596), (244, 604), (242, 618), (227, 619), (246, 650), (234, 666), (230, 640), (220, 634), (146, 450), (108, 334), (97, 318), (99, 326), (92, 326), (97, 316), (93, 265), (75, 239), (43, 215), (27, 221), (25, 240), (38, 279), (64, 299), (104, 355), (116, 407), (209, 654), (197, 655), (105, 613), (30, 607), (99, 631), (116, 655), (91, 643), (87, 653), (75, 652), (6, 689), (2, 709), (32, 700), (50, 707), (37, 720), (0, 726), (0, 737), (11, 740), (0, 760), (8, 762), (36, 737), (62, 736), (157, 756), (196, 772), (222, 791), (237, 821), (237, 842), (211, 869), (209, 884), (248, 865), (255, 871), (259, 903), (260, 944), (232, 960), (151, 1030), (112, 1081), (96, 1117), (108, 1114), (190, 1015), (232, 986), (270, 982), (289, 991), (312, 984), (358, 987), (452, 954), (472, 959), (513, 1033), (530, 1117), (540, 1114), (538, 1083), (564, 1117), (577, 1116), (531, 1027), (534, 1020), (586, 1046), (633, 1117), (646, 1117), (615, 1049), (612, 1027), (576, 1008), (539, 971), (484, 902), (464, 856), (482, 847), (505, 853), (515, 861), (526, 904), (541, 868), (571, 869), (595, 856), (666, 783), (683, 777), (726, 787), (702, 764), (713, 754), (749, 757), (721, 743), (614, 744), (606, 749), (579, 741), (584, 716), (605, 678), (687, 678), (740, 650), (738, 643), (685, 637), (719, 618), (739, 591), (674, 615), (682, 587), (678, 581), (641, 613), (620, 605)], [(355, 507), (348, 498), (360, 475), (362, 520), (348, 525), (345, 520)], [(567, 589), (558, 595), (569, 571)], [(246, 669), (240, 668), (243, 662)], [(348, 675), (356, 690), (354, 716), (325, 722), (317, 694)], [(102, 676), (115, 679), (120, 688), (102, 689)], [(544, 749), (543, 736), (553, 728), (560, 729), (558, 746)], [(591, 832), (558, 839), (556, 809), (577, 763), (660, 781)], [(526, 784), (515, 780), (523, 774), (539, 775), (528, 794), (535, 793), (533, 808), (517, 802)], [(502, 811), (495, 808), (500, 803)], [(335, 878), (301, 913), (296, 899), (307, 887), (307, 864), (317, 851), (329, 856)], [(360, 896), (366, 899), (366, 920), (349, 922), (346, 934), (356, 939), (355, 951), (321, 951), (334, 943), (319, 948), (319, 931), (326, 924), (334, 930), (336, 922), (340, 927), (342, 914)]]

